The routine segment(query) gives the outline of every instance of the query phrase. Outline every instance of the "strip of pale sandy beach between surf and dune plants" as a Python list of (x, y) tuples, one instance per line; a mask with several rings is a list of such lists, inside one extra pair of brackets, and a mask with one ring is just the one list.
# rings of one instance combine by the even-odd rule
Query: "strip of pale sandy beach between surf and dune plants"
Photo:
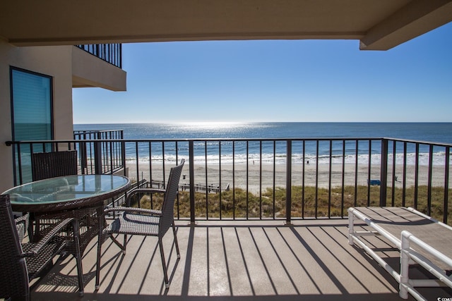
[[(165, 164), (165, 177), (169, 175), (169, 168), (174, 164)], [(136, 164), (128, 164), (129, 178), (131, 180), (150, 180), (150, 166), (149, 164), (141, 163), (138, 165), (138, 173)], [(331, 168), (331, 177), (330, 175)], [(152, 179), (162, 181), (161, 164), (152, 165)], [(207, 183), (206, 183), (206, 169), (207, 169)], [(318, 171), (318, 173), (316, 173)], [(273, 177), (274, 173), (274, 177)], [(317, 176), (316, 176), (317, 174)], [(393, 167), (388, 166), (388, 186), (393, 183)], [(261, 175), (261, 176), (260, 176)], [(304, 175), (304, 176), (303, 176)], [(355, 177), (357, 175), (357, 177)], [(369, 176), (370, 175), (370, 176)], [(403, 187), (403, 166), (396, 166), (395, 186)], [(415, 185), (415, 166), (407, 166), (406, 170), (406, 186)], [(307, 185), (318, 186), (319, 188), (338, 187), (343, 185), (355, 185), (355, 178), (357, 185), (367, 185), (367, 180), (380, 180), (380, 165), (373, 164), (370, 168), (367, 165), (346, 164), (343, 168), (342, 164), (305, 164), (304, 173), (302, 164), (292, 164), (292, 185)], [(222, 164), (221, 173), (218, 164), (195, 164), (194, 166), (194, 183), (199, 185), (212, 185), (217, 187), (221, 182), (221, 187), (224, 189), (227, 185), (230, 188), (242, 188), (250, 192), (258, 193), (259, 190), (266, 188), (283, 187), (286, 186), (286, 164)], [(450, 182), (450, 181), (449, 181)], [(427, 185), (428, 183), (428, 168), (427, 166), (419, 166), (418, 185)], [(189, 164), (186, 162), (182, 177), (181, 185), (189, 184)], [(444, 167), (434, 166), (432, 169), (432, 185), (444, 187)], [(450, 184), (449, 184), (450, 185)]]

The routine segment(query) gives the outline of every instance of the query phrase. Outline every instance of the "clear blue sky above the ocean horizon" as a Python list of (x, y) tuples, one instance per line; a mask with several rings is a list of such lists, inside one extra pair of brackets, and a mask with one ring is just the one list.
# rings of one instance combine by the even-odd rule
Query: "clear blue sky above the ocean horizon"
[(452, 122), (452, 23), (357, 40), (123, 44), (127, 91), (73, 89), (74, 123)]

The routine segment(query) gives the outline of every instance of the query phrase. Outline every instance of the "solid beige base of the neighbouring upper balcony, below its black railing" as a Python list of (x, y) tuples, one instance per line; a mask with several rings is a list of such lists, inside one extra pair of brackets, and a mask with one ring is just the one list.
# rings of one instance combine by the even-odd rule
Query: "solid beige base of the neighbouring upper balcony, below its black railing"
[(72, 87), (101, 87), (112, 91), (126, 91), (126, 71), (74, 46)]

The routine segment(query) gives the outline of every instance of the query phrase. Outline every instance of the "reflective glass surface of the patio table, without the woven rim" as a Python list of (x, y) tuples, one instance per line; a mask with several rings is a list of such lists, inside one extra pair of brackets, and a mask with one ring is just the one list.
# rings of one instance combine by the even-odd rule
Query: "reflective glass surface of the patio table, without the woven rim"
[(124, 176), (78, 175), (48, 178), (6, 190), (11, 204), (53, 204), (78, 199), (101, 197), (128, 187), (130, 180)]

